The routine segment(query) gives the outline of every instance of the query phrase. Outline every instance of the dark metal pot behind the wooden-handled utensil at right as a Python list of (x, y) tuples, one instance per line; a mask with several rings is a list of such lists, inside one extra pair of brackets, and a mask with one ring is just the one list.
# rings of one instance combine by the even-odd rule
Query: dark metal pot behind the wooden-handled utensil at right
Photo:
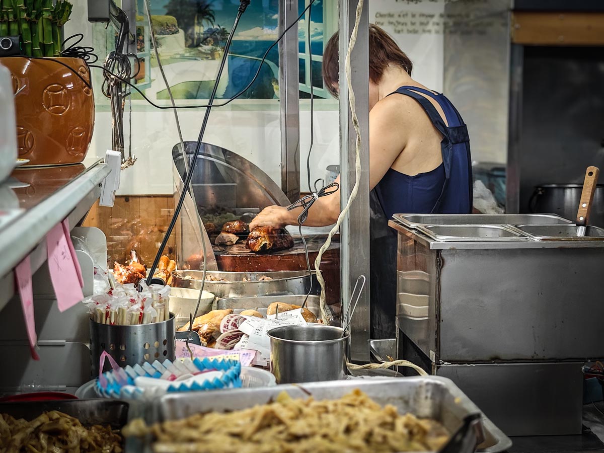
[[(583, 184), (538, 185), (528, 202), (528, 208), (532, 213), (557, 214), (574, 222), (582, 190)], [(590, 224), (604, 226), (604, 184), (596, 187)]]

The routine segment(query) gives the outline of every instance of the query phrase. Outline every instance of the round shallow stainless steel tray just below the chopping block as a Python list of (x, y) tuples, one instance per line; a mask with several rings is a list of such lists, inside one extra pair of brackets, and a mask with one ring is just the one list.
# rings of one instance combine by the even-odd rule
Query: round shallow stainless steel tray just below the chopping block
[[(201, 288), (202, 271), (172, 272), (173, 286), (176, 288)], [(250, 297), (267, 295), (307, 294), (310, 277), (307, 271), (278, 272), (218, 272), (208, 271), (208, 275), (225, 278), (227, 281), (205, 281), (204, 289), (216, 297)], [(265, 275), (272, 280), (259, 281)], [(243, 281), (243, 278), (250, 281)], [(208, 277), (206, 277), (208, 278)], [(313, 277), (315, 278), (315, 277)], [(318, 285), (313, 285), (318, 288)]]

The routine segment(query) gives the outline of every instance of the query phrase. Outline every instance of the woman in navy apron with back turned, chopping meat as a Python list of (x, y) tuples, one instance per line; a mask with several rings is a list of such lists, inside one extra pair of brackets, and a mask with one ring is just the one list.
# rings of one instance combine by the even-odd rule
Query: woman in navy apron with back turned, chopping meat
[[(396, 213), (468, 214), (472, 210), (467, 128), (451, 101), (411, 79), (412, 68), (394, 40), (370, 25), (371, 338), (395, 334), (396, 233), (387, 220)], [(336, 97), (338, 76), (335, 34), (323, 54), (323, 79)], [(304, 225), (332, 225), (339, 213), (336, 192), (315, 202)], [(300, 210), (271, 206), (250, 228), (297, 225), (298, 214)]]

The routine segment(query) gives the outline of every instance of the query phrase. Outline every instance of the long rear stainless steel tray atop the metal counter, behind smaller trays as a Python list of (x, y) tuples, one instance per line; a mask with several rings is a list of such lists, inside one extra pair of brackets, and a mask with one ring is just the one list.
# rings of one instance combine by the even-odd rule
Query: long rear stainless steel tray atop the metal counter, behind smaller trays
[(554, 225), (573, 223), (554, 214), (394, 214), (394, 219), (416, 229), (426, 225)]

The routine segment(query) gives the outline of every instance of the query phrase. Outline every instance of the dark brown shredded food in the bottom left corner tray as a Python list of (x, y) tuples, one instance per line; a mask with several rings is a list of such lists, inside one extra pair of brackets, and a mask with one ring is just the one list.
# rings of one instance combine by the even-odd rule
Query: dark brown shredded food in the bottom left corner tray
[(85, 428), (80, 420), (59, 411), (45, 412), (31, 422), (0, 414), (2, 453), (121, 453), (120, 434), (109, 426)]

